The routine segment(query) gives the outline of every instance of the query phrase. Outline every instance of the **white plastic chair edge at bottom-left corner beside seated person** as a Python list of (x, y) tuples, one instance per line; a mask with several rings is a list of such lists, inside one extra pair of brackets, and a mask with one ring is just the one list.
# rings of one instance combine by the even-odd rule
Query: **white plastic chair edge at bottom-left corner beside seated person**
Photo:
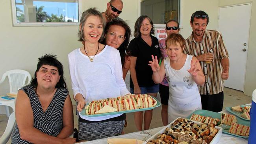
[(2, 137), (0, 137), (0, 144), (6, 144), (9, 140), (9, 138), (11, 137), (11, 133), (13, 131), (13, 127), (15, 125), (15, 112), (11, 113), (7, 126), (6, 126), (6, 130), (4, 131), (4, 134), (2, 135)]

